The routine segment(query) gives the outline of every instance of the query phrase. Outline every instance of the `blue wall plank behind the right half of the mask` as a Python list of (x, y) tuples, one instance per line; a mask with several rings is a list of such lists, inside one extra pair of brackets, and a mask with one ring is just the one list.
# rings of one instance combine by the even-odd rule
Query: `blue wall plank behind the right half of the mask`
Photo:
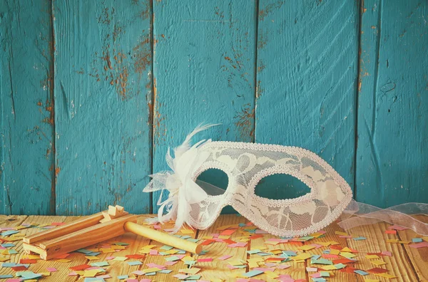
[(311, 150), (351, 187), (358, 23), (358, 1), (259, 4), (255, 141)]

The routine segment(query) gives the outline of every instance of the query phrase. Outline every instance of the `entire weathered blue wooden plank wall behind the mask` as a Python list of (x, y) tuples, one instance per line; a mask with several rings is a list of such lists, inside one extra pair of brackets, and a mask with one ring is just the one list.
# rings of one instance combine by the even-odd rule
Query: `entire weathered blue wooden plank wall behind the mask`
[(200, 122), (312, 150), (360, 202), (428, 202), (427, 21), (421, 0), (3, 0), (0, 213), (157, 211), (148, 174)]

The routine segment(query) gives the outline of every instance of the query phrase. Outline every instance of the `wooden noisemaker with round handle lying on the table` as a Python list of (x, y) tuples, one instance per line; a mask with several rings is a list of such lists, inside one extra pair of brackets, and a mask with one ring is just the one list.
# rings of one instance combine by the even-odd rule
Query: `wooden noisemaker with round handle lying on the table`
[(128, 214), (120, 206), (109, 206), (108, 211), (101, 211), (55, 229), (26, 236), (22, 245), (27, 254), (34, 252), (47, 260), (131, 232), (193, 254), (200, 254), (202, 251), (200, 244), (150, 229), (136, 222), (135, 214)]

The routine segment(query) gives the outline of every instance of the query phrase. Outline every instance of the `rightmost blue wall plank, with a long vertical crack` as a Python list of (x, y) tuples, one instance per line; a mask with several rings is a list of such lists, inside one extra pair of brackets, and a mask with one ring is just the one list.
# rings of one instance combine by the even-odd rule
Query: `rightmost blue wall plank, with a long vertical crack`
[[(426, 1), (366, 0), (362, 14), (357, 200), (428, 202)], [(422, 169), (422, 170), (421, 170)]]

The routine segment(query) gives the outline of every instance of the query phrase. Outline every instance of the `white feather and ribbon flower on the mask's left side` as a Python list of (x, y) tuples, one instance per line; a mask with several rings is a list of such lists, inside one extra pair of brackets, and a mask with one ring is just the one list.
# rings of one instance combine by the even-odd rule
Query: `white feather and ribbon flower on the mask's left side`
[[(190, 139), (196, 133), (207, 129), (214, 125), (198, 126), (184, 140), (183, 144), (174, 149), (174, 157), (170, 155), (170, 149), (166, 153), (166, 162), (172, 170), (166, 172), (158, 172), (151, 174), (153, 179), (143, 189), (143, 192), (161, 191), (158, 199), (158, 220), (163, 223), (170, 219), (175, 220), (174, 232), (178, 231), (183, 224), (188, 224), (188, 216), (191, 211), (190, 204), (202, 202), (208, 197), (208, 194), (192, 177), (192, 169), (200, 167), (203, 162), (209, 157), (208, 152), (201, 152), (200, 145), (203, 145), (211, 140), (200, 140), (195, 145), (190, 147)], [(163, 200), (163, 191), (168, 190), (168, 199)], [(166, 214), (163, 214), (166, 212)]]

